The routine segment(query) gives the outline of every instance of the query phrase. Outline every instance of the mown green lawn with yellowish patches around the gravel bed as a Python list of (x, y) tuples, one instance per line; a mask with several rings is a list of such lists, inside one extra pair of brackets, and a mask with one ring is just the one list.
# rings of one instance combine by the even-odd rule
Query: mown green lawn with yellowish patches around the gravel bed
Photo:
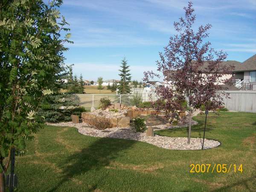
[[(200, 124), (192, 127), (192, 137), (202, 137), (204, 116), (195, 119)], [(186, 137), (186, 128), (156, 133)], [(256, 114), (210, 113), (206, 138), (221, 146), (176, 151), (46, 126), (27, 143), (27, 154), (17, 157), (18, 191), (256, 191)], [(243, 164), (243, 173), (189, 173), (191, 163)]]

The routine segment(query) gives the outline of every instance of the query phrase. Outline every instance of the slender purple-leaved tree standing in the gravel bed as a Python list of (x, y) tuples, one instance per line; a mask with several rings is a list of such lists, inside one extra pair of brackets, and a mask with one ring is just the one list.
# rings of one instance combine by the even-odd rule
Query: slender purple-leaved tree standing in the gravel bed
[[(205, 41), (212, 27), (210, 24), (199, 26), (198, 31), (192, 28), (195, 15), (192, 3), (189, 2), (185, 10), (185, 18), (174, 23), (178, 35), (171, 37), (164, 53), (160, 53), (160, 61), (157, 61), (158, 71), (171, 76), (172, 83), (167, 87), (160, 87), (157, 94), (166, 101), (163, 106), (166, 112), (181, 108), (181, 100), (186, 99), (189, 107), (188, 143), (191, 137), (192, 110), (198, 105), (204, 104), (207, 109), (215, 109), (222, 105), (223, 88), (218, 85), (223, 74), (231, 73), (231, 66), (222, 65), (227, 54), (222, 51), (214, 51), (210, 48), (210, 42)], [(160, 77), (152, 71), (144, 72), (144, 80), (149, 77)], [(168, 75), (169, 74), (169, 75)], [(169, 79), (165, 79), (169, 81)]]

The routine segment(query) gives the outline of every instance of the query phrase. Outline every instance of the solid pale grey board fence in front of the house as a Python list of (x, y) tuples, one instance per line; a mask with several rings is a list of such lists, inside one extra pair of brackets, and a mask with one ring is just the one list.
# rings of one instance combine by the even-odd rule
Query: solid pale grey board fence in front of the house
[(224, 98), (225, 108), (230, 111), (256, 113), (256, 91), (226, 91), (230, 98)]

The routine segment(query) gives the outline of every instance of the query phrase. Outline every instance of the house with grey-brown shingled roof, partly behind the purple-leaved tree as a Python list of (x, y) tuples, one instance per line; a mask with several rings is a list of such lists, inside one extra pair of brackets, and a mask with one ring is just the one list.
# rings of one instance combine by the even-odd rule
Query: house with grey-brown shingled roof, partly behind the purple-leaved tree
[[(227, 90), (256, 90), (256, 55), (248, 58), (244, 62), (239, 61), (223, 61), (221, 63), (233, 67), (232, 73), (222, 74), (219, 85), (225, 87)], [(208, 63), (204, 63), (201, 73), (206, 73), (205, 69)], [(175, 71), (164, 71), (165, 76), (164, 85), (171, 85)], [(233, 81), (233, 85), (224, 84), (223, 80), (230, 79)]]

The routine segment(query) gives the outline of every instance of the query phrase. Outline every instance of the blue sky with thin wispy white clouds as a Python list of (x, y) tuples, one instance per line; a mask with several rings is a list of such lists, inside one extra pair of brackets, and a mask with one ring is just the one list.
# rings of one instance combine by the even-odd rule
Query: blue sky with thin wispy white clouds
[[(119, 79), (125, 56), (132, 79), (156, 70), (158, 52), (176, 34), (173, 22), (184, 15), (187, 0), (64, 0), (61, 15), (70, 23), (74, 44), (65, 52), (84, 79)], [(208, 41), (244, 61), (256, 53), (256, 0), (194, 0), (195, 27), (212, 24)]]

